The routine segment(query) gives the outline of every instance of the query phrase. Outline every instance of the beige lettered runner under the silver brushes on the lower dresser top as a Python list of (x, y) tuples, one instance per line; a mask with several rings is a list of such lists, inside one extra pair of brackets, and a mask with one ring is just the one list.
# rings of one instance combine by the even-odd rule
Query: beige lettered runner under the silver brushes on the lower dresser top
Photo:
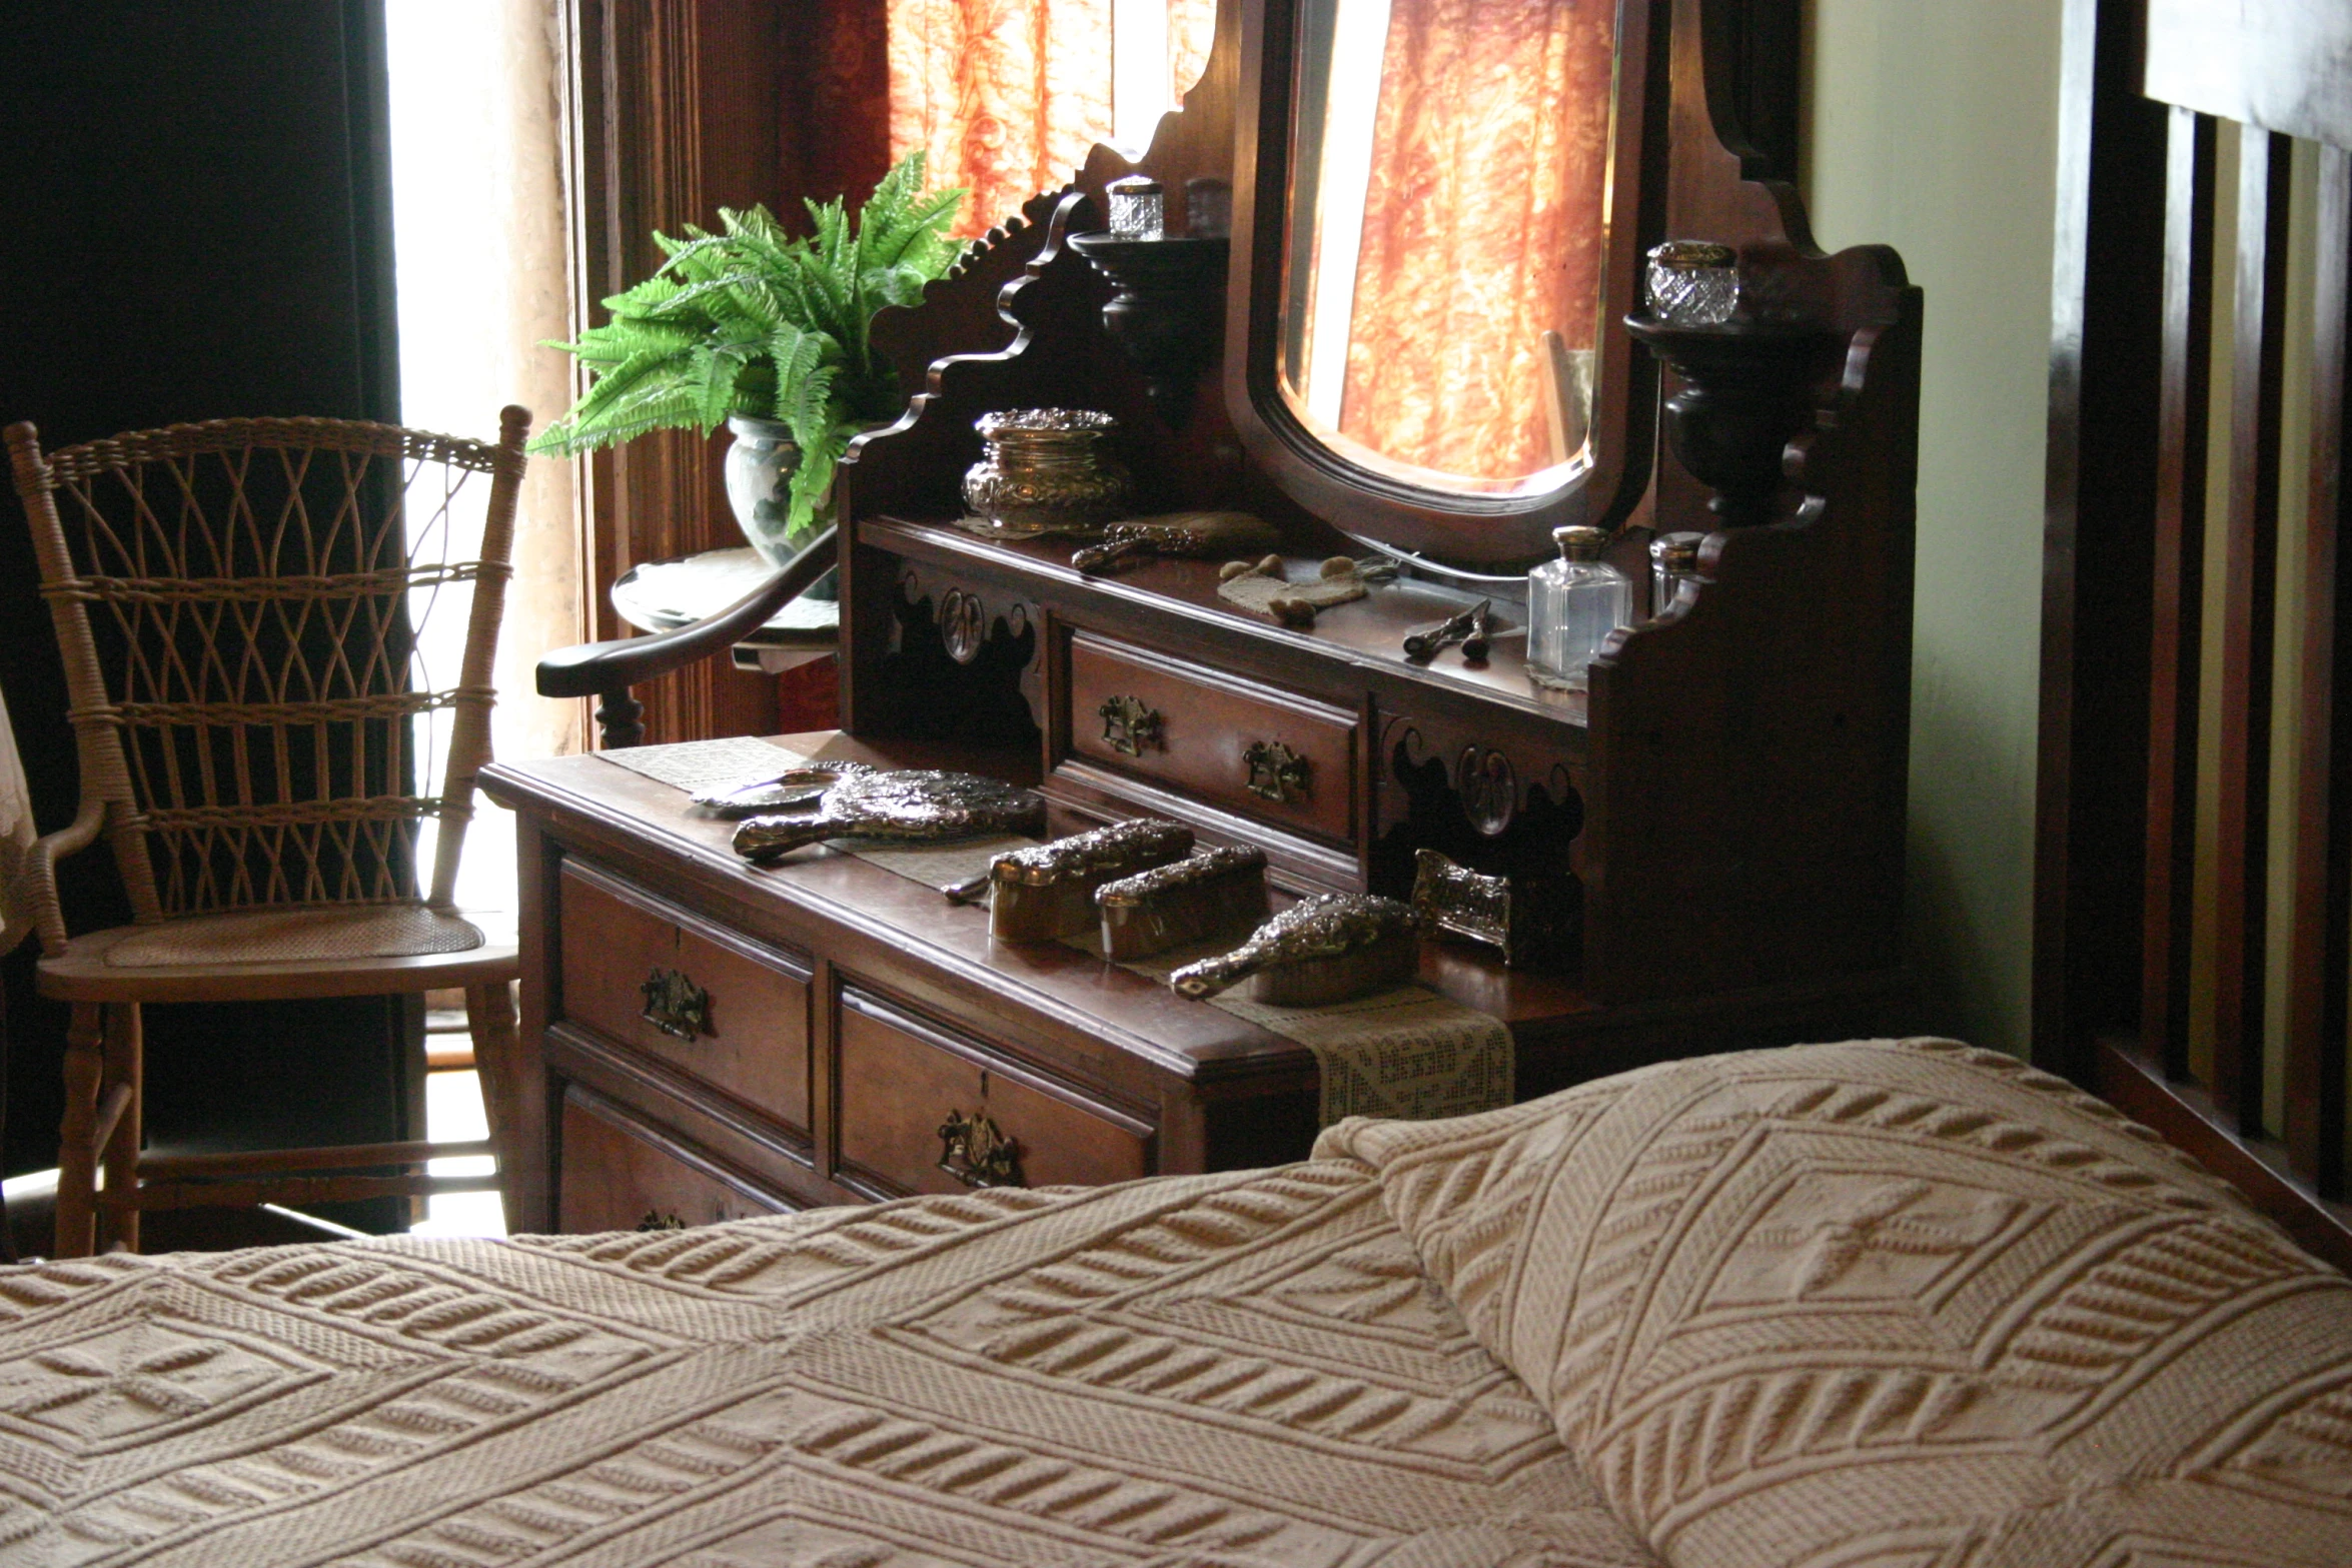
[[(597, 757), (677, 790), (708, 790), (736, 778), (781, 773), (795, 762), (804, 762), (800, 752), (753, 738), (637, 745), (597, 752)], [(826, 839), (826, 846), (870, 860), (910, 882), (948, 886), (978, 877), (1000, 853), (1030, 842), (990, 835), (953, 844)], [(1101, 936), (1094, 931), (1065, 940), (1080, 952), (1103, 957)], [(1195, 943), (1127, 961), (1122, 969), (1167, 985), (1169, 971), (1225, 947), (1230, 947), (1228, 940)], [(1399, 1121), (1468, 1117), (1512, 1103), (1517, 1053), (1510, 1044), (1510, 1025), (1425, 985), (1399, 985), (1331, 1006), (1268, 1006), (1228, 992), (1209, 997), (1209, 1006), (1294, 1039), (1315, 1056), (1315, 1067), (1322, 1074), (1324, 1126), (1345, 1117), (1392, 1117)]]

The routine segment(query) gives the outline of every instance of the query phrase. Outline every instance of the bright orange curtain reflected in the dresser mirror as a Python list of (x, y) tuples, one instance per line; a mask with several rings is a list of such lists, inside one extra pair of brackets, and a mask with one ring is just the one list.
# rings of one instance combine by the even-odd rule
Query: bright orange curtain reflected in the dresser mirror
[(1613, 12), (1392, 0), (1343, 435), (1484, 480), (1550, 463), (1541, 334), (1597, 329)]

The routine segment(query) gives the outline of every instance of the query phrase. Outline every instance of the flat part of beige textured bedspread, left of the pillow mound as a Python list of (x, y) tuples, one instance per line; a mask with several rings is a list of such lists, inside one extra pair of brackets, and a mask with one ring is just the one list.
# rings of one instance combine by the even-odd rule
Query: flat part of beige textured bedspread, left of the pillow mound
[(0, 1272), (0, 1563), (1651, 1563), (1355, 1164)]

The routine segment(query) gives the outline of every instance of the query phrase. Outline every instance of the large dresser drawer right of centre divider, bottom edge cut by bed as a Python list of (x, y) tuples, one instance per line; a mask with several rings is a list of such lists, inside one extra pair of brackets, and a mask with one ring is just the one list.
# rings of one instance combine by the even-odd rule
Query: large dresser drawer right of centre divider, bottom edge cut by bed
[[(844, 985), (840, 992), (840, 1164), (887, 1192), (1101, 1185), (1150, 1175), (1152, 1131), (976, 1046), (946, 1025)], [(976, 1124), (955, 1171), (941, 1128)], [(1009, 1154), (990, 1159), (990, 1145)]]

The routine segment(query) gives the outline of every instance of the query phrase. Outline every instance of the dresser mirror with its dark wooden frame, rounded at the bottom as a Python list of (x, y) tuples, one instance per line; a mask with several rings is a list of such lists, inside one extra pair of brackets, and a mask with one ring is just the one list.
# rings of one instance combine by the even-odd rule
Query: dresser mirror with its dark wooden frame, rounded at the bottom
[[(1501, 564), (1606, 503), (1644, 54), (1621, 12), (1642, 7), (1265, 7), (1249, 226), (1277, 287), (1251, 296), (1244, 423), (1305, 458), (1294, 494), (1341, 527)], [(1374, 505), (1334, 505), (1350, 489)]]

